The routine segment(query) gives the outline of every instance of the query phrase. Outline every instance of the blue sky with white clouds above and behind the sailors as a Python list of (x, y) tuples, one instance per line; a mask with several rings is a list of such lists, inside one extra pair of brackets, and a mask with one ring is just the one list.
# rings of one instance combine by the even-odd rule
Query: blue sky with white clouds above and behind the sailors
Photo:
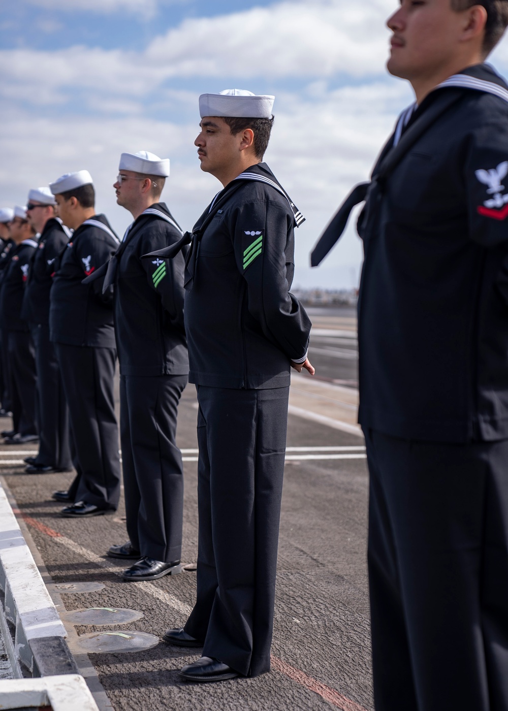
[[(88, 169), (97, 212), (123, 232), (112, 189), (122, 151), (171, 159), (163, 198), (191, 228), (220, 188), (201, 173), (198, 96), (274, 94), (265, 160), (307, 222), (295, 285), (351, 287), (361, 244), (350, 226), (322, 267), (309, 250), (363, 181), (411, 102), (384, 64), (396, 0), (16, 0), (0, 18), (0, 206)], [(506, 41), (492, 63), (508, 73)]]

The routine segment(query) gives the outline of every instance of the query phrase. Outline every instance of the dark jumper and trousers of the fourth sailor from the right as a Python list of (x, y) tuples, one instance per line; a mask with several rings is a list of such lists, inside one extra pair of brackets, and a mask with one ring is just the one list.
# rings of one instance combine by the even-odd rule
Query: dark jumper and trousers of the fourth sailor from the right
[(56, 264), (51, 287), (51, 341), (62, 374), (78, 471), (73, 500), (116, 509), (120, 498), (120, 454), (113, 376), (116, 348), (111, 289), (83, 278), (99, 269), (118, 247), (105, 215), (75, 230)]

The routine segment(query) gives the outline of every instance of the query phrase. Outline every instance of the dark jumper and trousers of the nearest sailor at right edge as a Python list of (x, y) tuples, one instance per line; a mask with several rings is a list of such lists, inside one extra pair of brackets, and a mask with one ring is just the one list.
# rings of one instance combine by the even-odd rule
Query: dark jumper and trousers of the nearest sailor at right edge
[(379, 711), (508, 708), (507, 88), (477, 65), (430, 92), (359, 218)]

